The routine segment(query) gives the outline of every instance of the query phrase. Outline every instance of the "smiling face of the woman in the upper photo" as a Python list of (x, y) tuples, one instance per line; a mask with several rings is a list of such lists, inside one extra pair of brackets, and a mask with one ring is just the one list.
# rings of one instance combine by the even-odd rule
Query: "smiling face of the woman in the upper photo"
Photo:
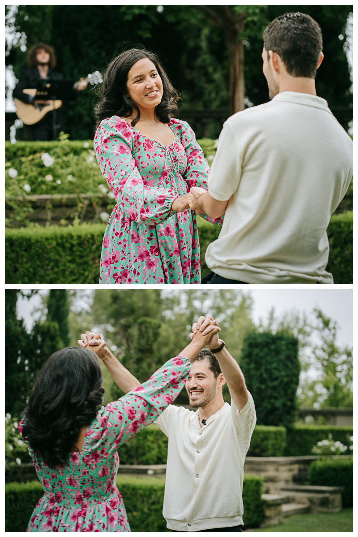
[(163, 83), (149, 58), (135, 62), (128, 72), (128, 96), (140, 110), (155, 108), (163, 96)]

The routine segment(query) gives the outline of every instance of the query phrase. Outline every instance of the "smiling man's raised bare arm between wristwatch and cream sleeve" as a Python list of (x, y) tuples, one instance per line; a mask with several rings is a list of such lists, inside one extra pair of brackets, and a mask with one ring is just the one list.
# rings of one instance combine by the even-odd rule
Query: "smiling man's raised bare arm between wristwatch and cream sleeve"
[(238, 410), (242, 410), (249, 399), (244, 375), (236, 360), (232, 358), (226, 347), (215, 354), (222, 374), (227, 381), (230, 395)]

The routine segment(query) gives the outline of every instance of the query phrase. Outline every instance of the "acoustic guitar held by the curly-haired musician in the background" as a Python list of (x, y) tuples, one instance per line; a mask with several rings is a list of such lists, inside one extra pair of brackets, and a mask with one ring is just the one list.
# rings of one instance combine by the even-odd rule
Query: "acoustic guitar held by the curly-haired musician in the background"
[[(98, 84), (99, 82), (103, 82), (103, 77), (99, 71), (92, 72), (90, 75), (87, 75), (85, 78), (85, 81), (89, 82), (91, 85)], [(77, 81), (74, 84), (74, 88), (77, 88), (79, 82)], [(26, 89), (23, 90), (26, 95), (31, 95), (32, 97), (37, 97), (38, 100), (47, 100), (47, 92), (46, 91), (38, 91), (36, 88)], [(53, 100), (50, 101), (49, 104), (46, 105), (34, 105), (34, 104), (26, 104), (23, 103), (23, 101), (19, 99), (14, 99), (14, 103), (16, 106), (16, 114), (19, 119), (25, 124), (25, 125), (35, 125), (36, 123), (39, 123), (42, 121), (42, 119), (45, 118), (45, 116), (51, 112), (52, 110), (57, 110), (58, 108), (61, 108), (62, 101), (61, 100)]]

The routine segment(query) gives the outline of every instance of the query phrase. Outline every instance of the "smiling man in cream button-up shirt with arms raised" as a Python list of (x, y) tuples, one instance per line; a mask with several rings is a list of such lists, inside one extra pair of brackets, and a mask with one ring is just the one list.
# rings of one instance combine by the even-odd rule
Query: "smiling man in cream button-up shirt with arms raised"
[[(204, 317), (193, 325), (202, 329)], [(169, 405), (156, 424), (168, 437), (163, 516), (179, 532), (241, 532), (244, 461), (256, 415), (243, 374), (214, 335), (186, 381), (196, 412)], [(228, 383), (231, 404), (222, 387)]]

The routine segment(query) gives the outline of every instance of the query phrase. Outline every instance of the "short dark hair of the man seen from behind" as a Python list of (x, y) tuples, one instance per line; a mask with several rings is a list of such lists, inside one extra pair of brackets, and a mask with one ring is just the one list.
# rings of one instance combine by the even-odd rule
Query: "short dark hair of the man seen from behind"
[(287, 13), (269, 24), (262, 35), (269, 60), (269, 50), (281, 56), (291, 76), (315, 78), (322, 32), (315, 20), (304, 13)]

